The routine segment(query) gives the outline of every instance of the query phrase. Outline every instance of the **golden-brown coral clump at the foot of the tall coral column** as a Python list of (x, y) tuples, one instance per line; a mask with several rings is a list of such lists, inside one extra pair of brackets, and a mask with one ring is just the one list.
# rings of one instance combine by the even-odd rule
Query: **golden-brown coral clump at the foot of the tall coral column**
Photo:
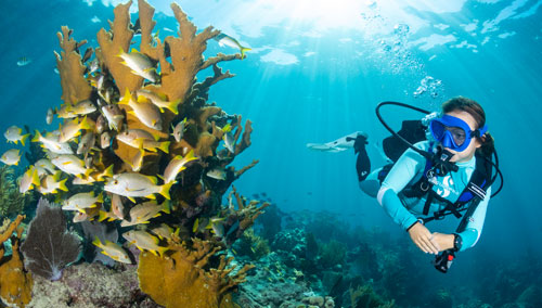
[(142, 253), (139, 264), (139, 281), (143, 292), (157, 304), (166, 307), (231, 307), (228, 293), (245, 281), (245, 266), (235, 274), (235, 266), (227, 269), (232, 258), (220, 257), (216, 268), (209, 268), (210, 259), (222, 251), (210, 241), (193, 239), (190, 243), (171, 240), (171, 252), (166, 257)]

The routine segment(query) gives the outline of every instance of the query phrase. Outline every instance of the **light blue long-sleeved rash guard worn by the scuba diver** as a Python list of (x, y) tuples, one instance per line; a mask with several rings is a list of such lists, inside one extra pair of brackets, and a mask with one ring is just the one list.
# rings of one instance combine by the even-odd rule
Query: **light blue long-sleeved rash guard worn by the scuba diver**
[[(429, 141), (418, 142), (414, 144), (414, 146), (423, 151), (428, 151)], [(422, 198), (406, 197), (401, 193), (401, 191), (404, 188), (416, 183), (422, 178), (425, 164), (425, 157), (412, 149), (409, 149), (393, 165), (387, 177), (384, 179), (382, 187), (378, 187), (378, 193), (376, 195), (378, 203), (391, 217), (391, 219), (396, 223), (400, 224), (404, 230), (414, 224), (418, 217), (424, 217), (423, 211), (426, 196)], [(437, 183), (433, 187), (433, 190), (439, 196), (452, 203), (459, 198), (460, 194), (467, 185), (468, 180), (470, 179), (470, 176), (476, 167), (476, 157), (473, 157), (468, 162), (456, 163), (456, 165), (459, 167), (456, 172), (450, 172), (444, 177), (437, 177)], [(365, 181), (360, 182), (360, 188), (370, 195), (375, 195), (374, 189), (376, 185), (374, 181), (377, 181), (379, 171), (380, 169), (373, 171), (365, 179)], [(461, 251), (473, 247), (476, 242), (478, 242), (483, 228), (483, 220), (486, 219), (486, 210), (488, 208), (490, 196), (491, 188), (488, 189), (486, 198), (480, 202), (470, 217), (466, 229), (459, 233), (463, 240)], [(434, 198), (427, 217), (433, 216), (435, 211), (443, 209), (444, 207), (446, 204), (443, 202)]]

